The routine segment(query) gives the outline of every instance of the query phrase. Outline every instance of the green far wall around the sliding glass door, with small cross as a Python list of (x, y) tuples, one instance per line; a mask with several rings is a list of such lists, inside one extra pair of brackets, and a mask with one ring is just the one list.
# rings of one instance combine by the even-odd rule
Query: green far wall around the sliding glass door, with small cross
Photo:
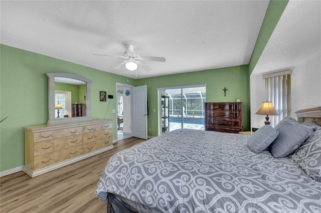
[[(158, 133), (158, 94), (156, 88), (197, 84), (207, 84), (206, 101), (208, 102), (232, 102), (239, 97), (243, 102), (243, 130), (250, 129), (248, 65), (241, 65), (137, 79), (136, 85), (147, 85), (148, 129), (151, 128), (148, 135), (156, 136)], [(222, 90), (224, 87), (228, 89), (226, 96)], [(156, 109), (155, 112), (153, 109)]]

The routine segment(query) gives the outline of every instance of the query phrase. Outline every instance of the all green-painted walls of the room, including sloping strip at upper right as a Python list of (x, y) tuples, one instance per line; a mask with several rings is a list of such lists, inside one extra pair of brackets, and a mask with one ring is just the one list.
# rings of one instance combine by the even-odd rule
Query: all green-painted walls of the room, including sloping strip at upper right
[[(237, 97), (243, 104), (243, 130), (250, 128), (249, 75), (252, 73), (268, 39), (270, 38), (288, 0), (271, 0), (269, 2), (249, 65), (211, 69), (167, 76), (143, 79), (129, 79), (52, 58), (34, 52), (0, 45), (0, 171), (24, 165), (24, 131), (23, 126), (44, 124), (48, 119), (48, 79), (44, 73), (68, 72), (79, 74), (93, 81), (91, 86), (92, 118), (114, 119), (112, 108), (116, 100), (99, 101), (99, 91), (116, 95), (115, 82), (131, 85), (147, 85), (149, 106), (148, 135), (157, 135), (158, 114), (157, 87), (207, 84), (207, 101), (235, 101)], [(228, 88), (224, 96), (222, 89)], [(81, 95), (79, 95), (81, 96)], [(80, 98), (81, 99), (81, 98)], [(80, 102), (77, 101), (77, 102)], [(108, 111), (108, 104), (110, 106)], [(106, 114), (106, 115), (105, 115)], [(114, 120), (113, 125), (116, 125)], [(113, 139), (116, 138), (116, 128)]]

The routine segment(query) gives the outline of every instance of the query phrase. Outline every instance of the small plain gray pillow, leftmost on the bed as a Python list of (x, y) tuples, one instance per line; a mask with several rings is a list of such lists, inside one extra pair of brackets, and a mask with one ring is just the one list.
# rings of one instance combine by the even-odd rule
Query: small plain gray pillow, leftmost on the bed
[(257, 129), (247, 140), (251, 151), (260, 153), (266, 149), (277, 137), (279, 132), (270, 125), (264, 125)]

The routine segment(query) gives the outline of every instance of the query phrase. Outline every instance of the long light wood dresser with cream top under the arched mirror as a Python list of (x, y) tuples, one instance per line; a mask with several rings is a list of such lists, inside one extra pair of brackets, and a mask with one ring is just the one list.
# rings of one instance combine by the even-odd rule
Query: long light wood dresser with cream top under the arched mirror
[(25, 126), (25, 166), (35, 177), (112, 149), (112, 120)]

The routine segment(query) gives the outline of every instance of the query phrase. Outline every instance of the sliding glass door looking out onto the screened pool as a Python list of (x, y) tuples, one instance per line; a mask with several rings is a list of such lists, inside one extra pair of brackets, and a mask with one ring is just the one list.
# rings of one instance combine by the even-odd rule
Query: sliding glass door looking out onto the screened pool
[[(160, 123), (162, 133), (179, 128), (204, 130), (206, 85), (159, 88), (159, 92), (161, 96), (160, 111), (162, 115)], [(164, 105), (164, 99), (166, 98), (169, 102)], [(169, 123), (164, 123), (164, 121), (167, 121), (167, 116), (164, 116), (167, 113), (169, 114)], [(169, 125), (168, 128), (167, 125)]]

